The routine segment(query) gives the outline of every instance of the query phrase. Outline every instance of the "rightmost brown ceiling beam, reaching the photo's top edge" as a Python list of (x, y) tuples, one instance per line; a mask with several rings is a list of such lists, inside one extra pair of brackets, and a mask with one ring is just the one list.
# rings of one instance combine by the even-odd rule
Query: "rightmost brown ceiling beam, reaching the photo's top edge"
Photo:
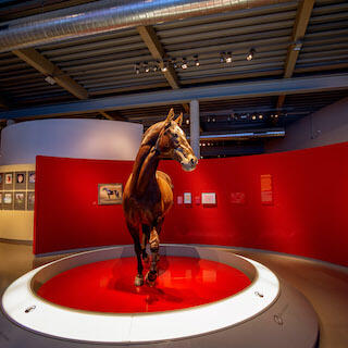
[[(315, 0), (301, 0), (297, 10), (296, 20), (293, 28), (291, 44), (287, 49), (287, 57), (284, 66), (284, 78), (293, 76), (296, 62), (302, 47), (309, 20), (312, 14)], [(277, 109), (282, 109), (285, 101), (285, 95), (281, 95), (276, 102)]]

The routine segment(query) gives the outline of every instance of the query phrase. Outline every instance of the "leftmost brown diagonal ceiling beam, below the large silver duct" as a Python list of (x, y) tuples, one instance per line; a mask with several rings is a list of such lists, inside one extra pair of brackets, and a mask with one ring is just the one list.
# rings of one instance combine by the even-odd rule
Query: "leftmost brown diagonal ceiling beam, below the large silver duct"
[(27, 48), (14, 50), (12, 52), (44, 75), (52, 77), (58, 85), (70, 91), (78, 99), (88, 98), (88, 92), (83, 86), (77, 84), (72, 77), (62, 72), (55, 64), (50, 62), (36, 49)]

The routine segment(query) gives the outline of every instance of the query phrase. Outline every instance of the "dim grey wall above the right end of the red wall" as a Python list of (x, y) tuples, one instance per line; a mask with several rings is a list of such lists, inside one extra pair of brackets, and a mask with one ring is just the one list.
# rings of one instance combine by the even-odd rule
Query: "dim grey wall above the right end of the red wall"
[(265, 144), (265, 152), (289, 151), (348, 141), (348, 98), (290, 124), (284, 139)]

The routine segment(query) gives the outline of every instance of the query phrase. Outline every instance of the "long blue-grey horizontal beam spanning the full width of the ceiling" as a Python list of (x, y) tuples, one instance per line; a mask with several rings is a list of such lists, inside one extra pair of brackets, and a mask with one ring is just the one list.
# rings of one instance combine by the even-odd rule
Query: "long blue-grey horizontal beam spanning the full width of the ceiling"
[(293, 77), (252, 83), (231, 83), (224, 85), (212, 84), (204, 87), (188, 89), (162, 90), (128, 96), (114, 96), (100, 99), (79, 100), (53, 105), (38, 105), (34, 108), (0, 112), (0, 119), (17, 119), (42, 115), (69, 115), (90, 113), (100, 110), (124, 110), (129, 108), (148, 108), (154, 105), (171, 105), (200, 101), (244, 99), (279, 94), (295, 95), (327, 90), (348, 89), (348, 74), (323, 75), (311, 77)]

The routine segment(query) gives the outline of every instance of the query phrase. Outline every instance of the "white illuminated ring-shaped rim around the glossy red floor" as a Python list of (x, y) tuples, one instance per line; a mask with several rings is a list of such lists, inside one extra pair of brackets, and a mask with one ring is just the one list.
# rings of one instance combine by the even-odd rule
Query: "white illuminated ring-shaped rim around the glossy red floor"
[[(101, 344), (140, 344), (215, 335), (222, 330), (229, 332), (234, 327), (238, 332), (245, 327), (246, 323), (259, 322), (261, 316), (271, 312), (278, 302), (281, 287), (277, 277), (256, 261), (229, 252), (186, 246), (165, 246), (160, 252), (166, 256), (194, 257), (232, 265), (244, 272), (251, 279), (251, 285), (232, 297), (213, 303), (145, 314), (73, 310), (48, 302), (36, 295), (36, 290), (45, 282), (61, 272), (86, 263), (134, 256), (133, 246), (116, 247), (82, 252), (23, 275), (5, 290), (2, 308), (5, 314), (18, 325), (48, 336)], [(268, 323), (268, 328), (288, 330), (284, 325), (286, 311), (285, 307), (283, 312), (277, 310), (269, 313), (271, 321)], [(309, 339), (311, 345), (297, 345), (297, 347), (313, 346), (318, 323), (316, 319), (311, 322), (311, 334), (307, 335), (311, 338)], [(286, 324), (288, 325), (289, 322)], [(257, 325), (253, 326), (257, 327)], [(266, 326), (263, 327), (265, 328)], [(250, 337), (245, 337), (243, 341), (246, 343), (249, 339)], [(257, 341), (258, 347), (262, 347), (262, 339)]]

